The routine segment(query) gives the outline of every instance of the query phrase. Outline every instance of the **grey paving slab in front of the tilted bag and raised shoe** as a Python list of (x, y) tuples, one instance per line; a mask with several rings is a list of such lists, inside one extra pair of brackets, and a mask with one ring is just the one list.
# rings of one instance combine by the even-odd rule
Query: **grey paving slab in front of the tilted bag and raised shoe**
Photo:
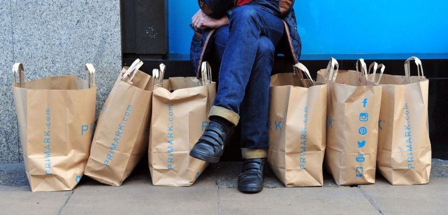
[(89, 180), (76, 188), (61, 214), (217, 214), (217, 186), (200, 178), (190, 187), (153, 186), (150, 180), (116, 187)]

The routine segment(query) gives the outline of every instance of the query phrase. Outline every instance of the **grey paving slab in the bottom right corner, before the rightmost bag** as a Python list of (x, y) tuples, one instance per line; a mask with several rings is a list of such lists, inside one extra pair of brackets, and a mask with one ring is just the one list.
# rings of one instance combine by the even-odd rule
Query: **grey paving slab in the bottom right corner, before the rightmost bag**
[(431, 177), (428, 184), (392, 185), (385, 179), (361, 185), (384, 214), (448, 214), (448, 177)]

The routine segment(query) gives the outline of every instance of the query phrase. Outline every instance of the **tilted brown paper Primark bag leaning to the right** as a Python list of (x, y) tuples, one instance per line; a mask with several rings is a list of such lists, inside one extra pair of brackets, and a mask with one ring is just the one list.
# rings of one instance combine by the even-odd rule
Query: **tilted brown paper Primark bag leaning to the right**
[(121, 185), (146, 153), (154, 78), (142, 64), (122, 69), (98, 117), (85, 174), (101, 183)]

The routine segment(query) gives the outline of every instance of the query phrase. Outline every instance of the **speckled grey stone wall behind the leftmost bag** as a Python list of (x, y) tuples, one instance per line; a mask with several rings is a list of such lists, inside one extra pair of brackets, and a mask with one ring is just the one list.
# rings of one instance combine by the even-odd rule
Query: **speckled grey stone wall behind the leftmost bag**
[(13, 63), (26, 80), (85, 77), (93, 63), (100, 108), (121, 67), (120, 0), (1, 0), (0, 14), (0, 162), (20, 162)]

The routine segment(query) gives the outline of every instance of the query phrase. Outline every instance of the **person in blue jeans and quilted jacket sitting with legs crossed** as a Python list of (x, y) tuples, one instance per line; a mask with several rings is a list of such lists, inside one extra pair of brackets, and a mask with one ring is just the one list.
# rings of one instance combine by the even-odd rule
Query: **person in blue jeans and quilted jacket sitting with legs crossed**
[[(238, 189), (259, 192), (269, 147), (267, 121), (274, 60), (277, 53), (283, 53), (291, 65), (295, 64), (301, 41), (293, 0), (237, 0), (231, 8), (224, 8), (229, 2), (233, 0), (200, 0), (201, 9), (191, 18), (195, 35), (190, 57), (195, 72), (199, 74), (201, 61), (207, 58), (214, 57), (220, 67), (210, 122), (190, 156), (219, 161), (230, 131), (240, 123), (243, 168)], [(218, 17), (219, 12), (226, 15)]]

